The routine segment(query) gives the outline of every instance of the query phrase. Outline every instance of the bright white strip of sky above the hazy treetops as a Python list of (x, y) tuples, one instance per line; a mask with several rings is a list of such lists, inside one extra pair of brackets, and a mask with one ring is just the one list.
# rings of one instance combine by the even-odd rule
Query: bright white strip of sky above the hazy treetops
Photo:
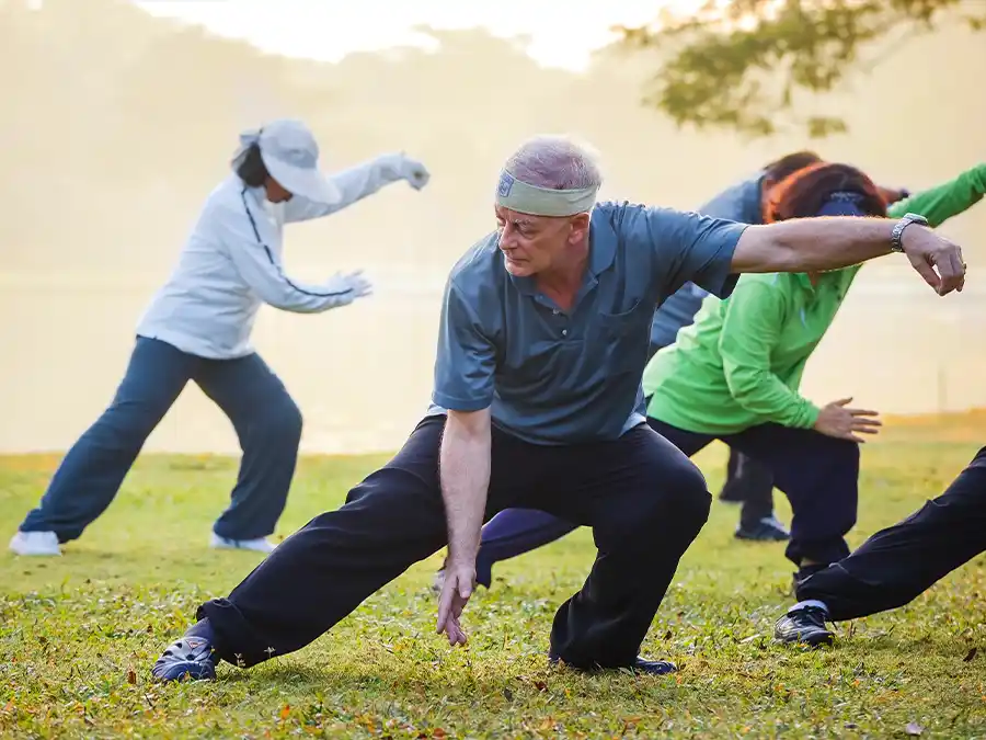
[(639, 25), (662, 8), (688, 11), (702, 0), (134, 0), (154, 15), (202, 23), (289, 56), (337, 61), (351, 52), (432, 47), (414, 32), (484, 26), (501, 36), (530, 36), (529, 54), (544, 66), (582, 69), (593, 49), (612, 39), (614, 24)]

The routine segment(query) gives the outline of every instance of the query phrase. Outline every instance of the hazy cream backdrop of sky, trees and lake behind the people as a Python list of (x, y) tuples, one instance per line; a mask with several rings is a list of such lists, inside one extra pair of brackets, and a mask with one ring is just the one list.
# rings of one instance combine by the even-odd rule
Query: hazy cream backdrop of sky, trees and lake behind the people
[[(302, 451), (323, 453), (392, 449), (425, 410), (445, 276), (493, 227), (498, 168), (527, 136), (594, 144), (605, 197), (684, 208), (795, 148), (912, 191), (986, 159), (986, 33), (965, 23), (883, 38), (825, 95), (846, 133), (676, 126), (642, 101), (654, 53), (609, 47), (610, 26), (695, 5), (0, 0), (0, 452), (64, 449), (108, 403), (238, 132), (267, 117), (305, 118), (329, 169), (403, 149), (433, 174), (422, 193), (398, 183), (286, 230), (294, 276), (364, 267), (377, 285), (351, 307), (257, 320), (305, 414)], [(986, 204), (942, 230), (963, 244), (965, 292), (937, 298), (902, 259), (867, 266), (807, 396), (986, 406)], [(146, 448), (238, 446), (190, 386)]]

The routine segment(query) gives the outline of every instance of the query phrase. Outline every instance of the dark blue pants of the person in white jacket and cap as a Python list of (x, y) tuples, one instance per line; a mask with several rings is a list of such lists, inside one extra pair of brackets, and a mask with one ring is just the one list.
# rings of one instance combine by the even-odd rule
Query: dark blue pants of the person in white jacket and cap
[(284, 511), (301, 439), (301, 413), (256, 354), (205, 360), (139, 337), (116, 396), (72, 445), (23, 532), (76, 539), (113, 501), (147, 437), (194, 380), (229, 417), (243, 459), (232, 501), (215, 524), (231, 539), (274, 532)]

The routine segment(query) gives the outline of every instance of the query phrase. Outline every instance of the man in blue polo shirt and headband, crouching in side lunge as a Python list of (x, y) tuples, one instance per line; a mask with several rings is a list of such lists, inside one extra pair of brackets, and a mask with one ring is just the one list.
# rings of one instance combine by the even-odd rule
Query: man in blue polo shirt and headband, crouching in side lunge
[(507, 506), (594, 527), (598, 556), (554, 617), (552, 661), (675, 670), (638, 651), (711, 497), (644, 421), (654, 306), (688, 281), (725, 297), (743, 272), (835, 270), (895, 250), (940, 295), (962, 288), (965, 269), (956, 246), (906, 217), (747, 226), (597, 204), (600, 183), (592, 155), (564, 138), (535, 138), (507, 160), (497, 229), (446, 285), (426, 418), (345, 505), (199, 606), (154, 664), (158, 680), (298, 650), (446, 543), (437, 630), (465, 645), (480, 528)]

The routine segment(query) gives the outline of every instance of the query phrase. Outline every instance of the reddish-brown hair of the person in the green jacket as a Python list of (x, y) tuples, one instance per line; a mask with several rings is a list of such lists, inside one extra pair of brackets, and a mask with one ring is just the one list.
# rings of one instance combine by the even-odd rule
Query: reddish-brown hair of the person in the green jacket
[(880, 189), (862, 171), (849, 164), (818, 162), (788, 175), (770, 193), (764, 223), (817, 216), (833, 193), (862, 196), (859, 208), (868, 216), (886, 216), (886, 201)]

